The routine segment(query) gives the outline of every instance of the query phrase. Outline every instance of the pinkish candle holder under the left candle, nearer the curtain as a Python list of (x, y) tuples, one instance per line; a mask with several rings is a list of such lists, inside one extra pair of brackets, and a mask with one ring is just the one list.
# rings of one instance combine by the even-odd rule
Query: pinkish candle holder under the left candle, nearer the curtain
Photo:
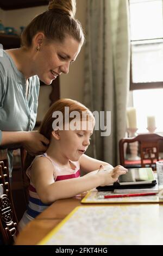
[[(138, 129), (137, 128), (128, 128), (128, 137), (135, 137), (136, 136), (136, 131)], [(130, 157), (128, 158), (129, 161), (134, 161), (134, 160), (140, 160), (140, 157), (137, 155), (138, 153), (138, 142), (133, 142), (133, 143), (129, 143), (129, 147), (130, 147)]]

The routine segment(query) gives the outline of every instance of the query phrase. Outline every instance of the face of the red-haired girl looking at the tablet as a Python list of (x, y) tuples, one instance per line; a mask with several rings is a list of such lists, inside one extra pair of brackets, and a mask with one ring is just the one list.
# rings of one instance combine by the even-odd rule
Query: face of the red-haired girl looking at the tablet
[(91, 122), (89, 129), (59, 131), (61, 154), (67, 159), (78, 161), (89, 147), (90, 137), (94, 128), (94, 120), (89, 122)]

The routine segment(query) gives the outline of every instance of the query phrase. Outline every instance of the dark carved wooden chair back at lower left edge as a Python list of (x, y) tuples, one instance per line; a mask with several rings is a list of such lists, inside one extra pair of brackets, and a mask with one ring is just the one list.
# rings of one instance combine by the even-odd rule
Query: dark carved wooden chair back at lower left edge
[(14, 235), (18, 234), (18, 221), (11, 194), (7, 150), (0, 150), (0, 187), (1, 239), (4, 245), (12, 245)]

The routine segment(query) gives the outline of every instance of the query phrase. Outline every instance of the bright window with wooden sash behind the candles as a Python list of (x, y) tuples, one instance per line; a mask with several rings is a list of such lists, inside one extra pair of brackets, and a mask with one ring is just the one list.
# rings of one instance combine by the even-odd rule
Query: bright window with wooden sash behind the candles
[(163, 6), (162, 0), (129, 0), (131, 34), (130, 90), (137, 112), (137, 132), (147, 132), (154, 115), (163, 131)]

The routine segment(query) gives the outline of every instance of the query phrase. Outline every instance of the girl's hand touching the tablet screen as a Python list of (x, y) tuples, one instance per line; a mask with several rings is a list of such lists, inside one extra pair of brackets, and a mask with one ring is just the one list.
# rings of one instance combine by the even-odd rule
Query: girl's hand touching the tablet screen
[(101, 186), (106, 186), (108, 184), (112, 184), (114, 182), (117, 181), (118, 176), (122, 175), (122, 174), (126, 174), (127, 173), (127, 169), (124, 168), (123, 166), (116, 166), (114, 169), (112, 170), (104, 170), (104, 166), (101, 166), (98, 170), (98, 175), (101, 175), (101, 177), (103, 178), (102, 184)]

